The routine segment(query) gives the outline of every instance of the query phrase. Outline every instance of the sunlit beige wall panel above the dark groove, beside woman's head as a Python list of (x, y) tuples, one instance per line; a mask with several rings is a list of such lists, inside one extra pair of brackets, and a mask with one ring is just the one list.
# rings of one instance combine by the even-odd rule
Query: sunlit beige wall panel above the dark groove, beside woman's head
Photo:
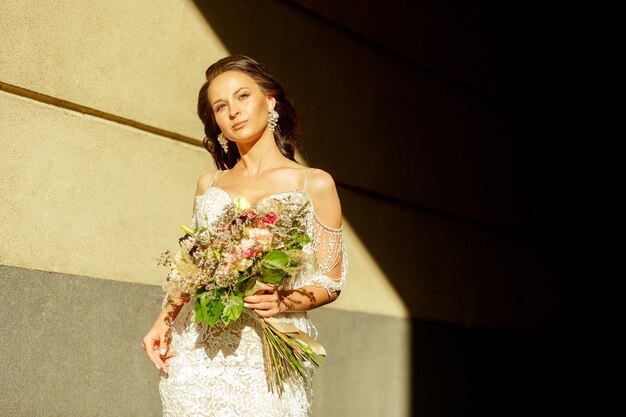
[(204, 136), (194, 112), (198, 85), (227, 51), (192, 2), (7, 0), (1, 7), (2, 82)]

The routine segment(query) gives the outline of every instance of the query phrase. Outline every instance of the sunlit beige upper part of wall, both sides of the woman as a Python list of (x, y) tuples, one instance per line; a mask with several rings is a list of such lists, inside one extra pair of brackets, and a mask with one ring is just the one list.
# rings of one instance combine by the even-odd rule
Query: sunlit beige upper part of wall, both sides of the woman
[[(190, 2), (94, 3), (94, 9), (78, 3), (51, 13), (42, 13), (39, 3), (32, 9), (23, 2), (3, 4), (0, 23), (16, 30), (0, 41), (0, 82), (17, 94), (48, 97), (35, 97), (38, 102), (3, 94), (7, 152), (0, 169), (7, 181), (0, 198), (7, 205), (0, 232), (12, 239), (0, 243), (0, 259), (159, 284), (163, 271), (152, 267), (152, 258), (175, 246), (178, 225), (189, 221), (195, 179), (214, 167), (201, 147), (108, 120), (188, 135), (199, 144), (197, 90), (206, 66), (227, 51)], [(67, 30), (57, 34), (61, 22)], [(54, 99), (104, 114), (60, 109)], [(21, 192), (29, 189), (33, 193)], [(45, 217), (38, 218), (33, 211), (41, 207)], [(30, 226), (43, 235), (35, 256), (33, 236), (20, 229)], [(335, 308), (403, 316), (402, 302), (346, 229), (355, 261), (350, 274), (360, 278), (349, 280)], [(79, 237), (90, 244), (77, 253)]]

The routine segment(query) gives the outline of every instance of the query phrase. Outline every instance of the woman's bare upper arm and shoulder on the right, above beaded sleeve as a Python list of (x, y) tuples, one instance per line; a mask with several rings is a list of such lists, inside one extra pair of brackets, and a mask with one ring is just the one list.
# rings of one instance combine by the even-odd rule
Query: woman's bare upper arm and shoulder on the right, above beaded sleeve
[(340, 228), (341, 203), (333, 177), (326, 171), (313, 169), (307, 179), (306, 192), (317, 219), (327, 227)]

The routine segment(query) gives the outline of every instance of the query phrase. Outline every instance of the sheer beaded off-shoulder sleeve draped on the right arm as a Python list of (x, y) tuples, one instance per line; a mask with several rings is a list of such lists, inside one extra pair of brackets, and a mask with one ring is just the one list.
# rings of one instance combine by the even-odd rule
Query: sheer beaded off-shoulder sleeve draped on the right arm
[(311, 247), (315, 255), (316, 265), (313, 274), (305, 281), (304, 285), (324, 287), (329, 295), (331, 291), (341, 291), (348, 270), (343, 228), (327, 227), (314, 217)]

